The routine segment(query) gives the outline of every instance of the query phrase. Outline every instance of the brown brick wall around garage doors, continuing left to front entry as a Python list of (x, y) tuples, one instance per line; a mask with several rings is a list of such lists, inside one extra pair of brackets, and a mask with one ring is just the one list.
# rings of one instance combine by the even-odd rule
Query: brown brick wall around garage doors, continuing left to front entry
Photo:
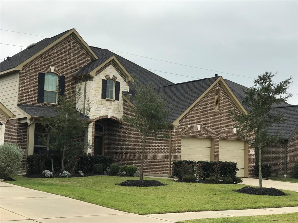
[[(214, 92), (220, 91), (220, 111), (214, 110)], [(128, 109), (129, 103), (123, 102), (123, 116), (133, 115)], [(171, 137), (171, 167), (173, 161), (180, 159), (181, 136), (197, 136), (213, 138), (215, 140), (215, 160), (218, 160), (219, 139), (240, 139), (232, 134), (233, 122), (229, 118), (229, 109), (240, 112), (220, 84), (217, 84), (202, 98), (187, 116), (179, 121), (177, 127), (172, 127)], [(114, 163), (120, 165), (140, 166), (142, 135), (127, 123), (105, 123), (105, 155), (112, 157)], [(202, 131), (197, 131), (197, 125), (201, 125)], [(185, 131), (187, 129), (187, 131)], [(169, 136), (169, 129), (165, 129), (162, 135)], [(252, 149), (252, 147), (249, 147)], [(249, 154), (249, 175), (252, 175), (254, 154)], [(169, 139), (154, 139), (148, 137), (145, 147), (144, 173), (167, 175), (169, 173)]]

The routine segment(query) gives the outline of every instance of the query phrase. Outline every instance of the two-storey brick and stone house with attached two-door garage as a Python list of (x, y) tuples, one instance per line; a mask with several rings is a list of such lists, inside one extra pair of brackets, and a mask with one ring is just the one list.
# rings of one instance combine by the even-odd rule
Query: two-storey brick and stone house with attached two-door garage
[(229, 118), (231, 109), (246, 113), (241, 104), (245, 87), (221, 76), (174, 84), (107, 49), (87, 45), (75, 29), (31, 44), (1, 62), (0, 121), (5, 131), (0, 139), (20, 144), (26, 156), (45, 153), (39, 140), (45, 133), (40, 119), (55, 116), (57, 87), (65, 98), (81, 88), (77, 106), (84, 113), (89, 99), (91, 112), (89, 117), (80, 114), (86, 129), (75, 140), (90, 142), (92, 148), (78, 153), (109, 156), (114, 163), (139, 167), (142, 136), (122, 119), (132, 115), (133, 81), (153, 84), (171, 111), (171, 125), (162, 133), (169, 137), (149, 137), (146, 143), (146, 175), (169, 176), (173, 161), (180, 159), (231, 160), (238, 163), (239, 177), (253, 175), (254, 148), (235, 134)]

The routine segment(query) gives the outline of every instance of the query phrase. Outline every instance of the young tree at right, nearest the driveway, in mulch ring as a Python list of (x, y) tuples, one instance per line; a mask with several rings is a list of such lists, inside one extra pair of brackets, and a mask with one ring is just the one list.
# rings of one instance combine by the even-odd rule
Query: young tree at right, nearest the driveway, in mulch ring
[[(254, 80), (254, 85), (245, 91), (246, 98), (243, 101), (244, 107), (248, 108), (248, 114), (238, 114), (230, 111), (230, 116), (234, 122), (238, 123), (234, 127), (237, 128), (236, 133), (258, 151), (259, 162), (259, 183), (262, 188), (262, 161), (261, 153), (265, 145), (280, 141), (278, 135), (272, 136), (268, 134), (267, 129), (273, 123), (283, 122), (282, 114), (271, 114), (272, 105), (286, 102), (291, 96), (287, 93), (291, 77), (275, 84), (272, 78), (276, 75), (268, 73), (259, 75)], [(254, 133), (254, 134), (252, 134)]]

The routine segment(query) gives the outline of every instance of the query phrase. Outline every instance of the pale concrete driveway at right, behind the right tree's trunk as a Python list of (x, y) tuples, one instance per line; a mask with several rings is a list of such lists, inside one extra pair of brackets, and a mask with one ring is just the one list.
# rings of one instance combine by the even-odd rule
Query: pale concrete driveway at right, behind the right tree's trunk
[[(242, 184), (249, 186), (259, 186), (259, 179), (242, 178)], [(280, 190), (296, 191), (298, 192), (298, 183), (283, 182), (277, 180), (262, 180), (263, 187), (273, 187)]]

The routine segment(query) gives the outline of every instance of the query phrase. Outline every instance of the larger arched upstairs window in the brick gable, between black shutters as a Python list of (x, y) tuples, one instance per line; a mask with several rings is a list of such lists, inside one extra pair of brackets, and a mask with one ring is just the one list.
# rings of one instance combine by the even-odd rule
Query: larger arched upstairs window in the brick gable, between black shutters
[(55, 73), (44, 75), (44, 103), (57, 103), (58, 76)]

